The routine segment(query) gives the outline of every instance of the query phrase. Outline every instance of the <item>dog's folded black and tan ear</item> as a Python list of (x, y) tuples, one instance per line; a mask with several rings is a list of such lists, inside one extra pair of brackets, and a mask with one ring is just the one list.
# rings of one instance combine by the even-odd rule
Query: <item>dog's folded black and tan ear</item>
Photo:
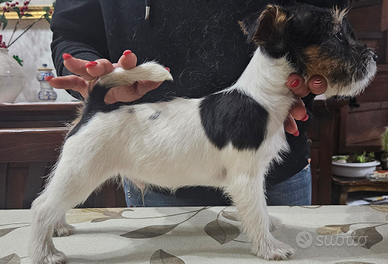
[(281, 6), (268, 5), (261, 14), (253, 14), (239, 23), (248, 41), (253, 40), (258, 46), (275, 45), (275, 48), (280, 48), (283, 31), (289, 20)]

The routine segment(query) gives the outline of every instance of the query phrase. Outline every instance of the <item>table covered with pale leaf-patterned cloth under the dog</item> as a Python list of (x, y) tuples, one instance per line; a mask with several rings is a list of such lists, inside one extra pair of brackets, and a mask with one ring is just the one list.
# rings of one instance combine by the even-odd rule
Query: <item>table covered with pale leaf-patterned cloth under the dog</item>
[[(273, 235), (296, 249), (286, 263), (387, 263), (388, 206), (269, 212), (283, 221)], [(0, 263), (30, 263), (30, 220), (29, 210), (0, 210)], [(269, 263), (250, 253), (233, 207), (73, 209), (67, 220), (75, 233), (54, 243), (68, 263)]]

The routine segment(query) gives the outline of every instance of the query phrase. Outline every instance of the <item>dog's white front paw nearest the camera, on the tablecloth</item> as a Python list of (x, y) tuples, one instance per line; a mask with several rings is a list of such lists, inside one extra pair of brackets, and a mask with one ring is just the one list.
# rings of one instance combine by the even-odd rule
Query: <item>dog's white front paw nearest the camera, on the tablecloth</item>
[(258, 249), (255, 247), (252, 251), (259, 258), (268, 260), (288, 259), (295, 252), (292, 247), (276, 239), (271, 239), (270, 242), (266, 241)]

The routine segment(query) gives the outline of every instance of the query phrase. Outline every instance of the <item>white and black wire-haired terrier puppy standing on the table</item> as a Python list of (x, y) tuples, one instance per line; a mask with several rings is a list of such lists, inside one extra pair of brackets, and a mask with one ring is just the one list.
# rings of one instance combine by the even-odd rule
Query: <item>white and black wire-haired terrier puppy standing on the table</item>
[(376, 55), (356, 41), (346, 11), (299, 5), (268, 6), (241, 26), (258, 48), (236, 83), (200, 99), (106, 105), (107, 91), (138, 80), (172, 77), (145, 63), (116, 69), (95, 85), (71, 129), (43, 193), (32, 206), (30, 256), (63, 263), (52, 235), (67, 235), (67, 210), (106, 180), (121, 175), (138, 186), (222, 188), (239, 210), (255, 255), (286, 259), (293, 249), (276, 240), (266, 209), (264, 178), (287, 151), (284, 121), (296, 98), (286, 87), (298, 72), (326, 78), (328, 97), (354, 96), (376, 73)]

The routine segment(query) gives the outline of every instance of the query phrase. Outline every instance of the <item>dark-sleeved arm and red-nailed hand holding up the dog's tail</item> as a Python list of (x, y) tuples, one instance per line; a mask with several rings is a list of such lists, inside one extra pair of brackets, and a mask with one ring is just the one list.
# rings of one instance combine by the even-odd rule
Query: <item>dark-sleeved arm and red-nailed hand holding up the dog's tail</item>
[[(57, 0), (51, 30), (52, 57), (60, 77), (47, 80), (51, 86), (66, 89), (78, 99), (88, 96), (97, 77), (116, 67), (131, 69), (137, 64), (136, 56), (129, 50), (124, 51), (117, 63), (110, 61), (105, 23), (98, 0)], [(105, 101), (134, 101), (160, 84), (139, 81), (136, 85), (115, 87), (109, 90)]]

